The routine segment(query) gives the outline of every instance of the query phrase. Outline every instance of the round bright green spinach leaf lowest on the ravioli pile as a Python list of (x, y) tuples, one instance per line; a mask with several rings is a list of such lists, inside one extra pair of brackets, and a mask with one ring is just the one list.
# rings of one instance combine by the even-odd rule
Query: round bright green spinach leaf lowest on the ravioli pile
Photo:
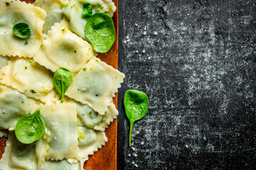
[(38, 109), (31, 115), (23, 115), (17, 122), (15, 135), (23, 144), (30, 144), (39, 140), (46, 130), (46, 124)]

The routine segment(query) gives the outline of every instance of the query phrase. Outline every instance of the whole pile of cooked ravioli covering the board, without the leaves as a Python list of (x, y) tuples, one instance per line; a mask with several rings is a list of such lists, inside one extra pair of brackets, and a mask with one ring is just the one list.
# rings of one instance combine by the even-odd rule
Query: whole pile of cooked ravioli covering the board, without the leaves
[[(107, 142), (105, 129), (118, 115), (112, 98), (124, 74), (97, 58), (85, 40), (85, 2), (93, 13), (112, 17), (116, 10), (111, 0), (0, 1), (0, 137), (8, 136), (0, 169), (83, 169)], [(31, 37), (16, 38), (16, 23), (28, 23)], [(59, 67), (73, 76), (63, 103), (53, 85)], [(46, 131), (22, 144), (16, 123), (38, 109)]]

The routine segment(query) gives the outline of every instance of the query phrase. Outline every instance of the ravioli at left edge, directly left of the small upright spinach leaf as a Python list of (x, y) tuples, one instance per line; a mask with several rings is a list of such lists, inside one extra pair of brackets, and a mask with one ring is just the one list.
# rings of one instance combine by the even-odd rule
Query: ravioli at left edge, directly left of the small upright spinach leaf
[(54, 101), (53, 74), (30, 59), (12, 58), (3, 68), (1, 84), (42, 102)]

